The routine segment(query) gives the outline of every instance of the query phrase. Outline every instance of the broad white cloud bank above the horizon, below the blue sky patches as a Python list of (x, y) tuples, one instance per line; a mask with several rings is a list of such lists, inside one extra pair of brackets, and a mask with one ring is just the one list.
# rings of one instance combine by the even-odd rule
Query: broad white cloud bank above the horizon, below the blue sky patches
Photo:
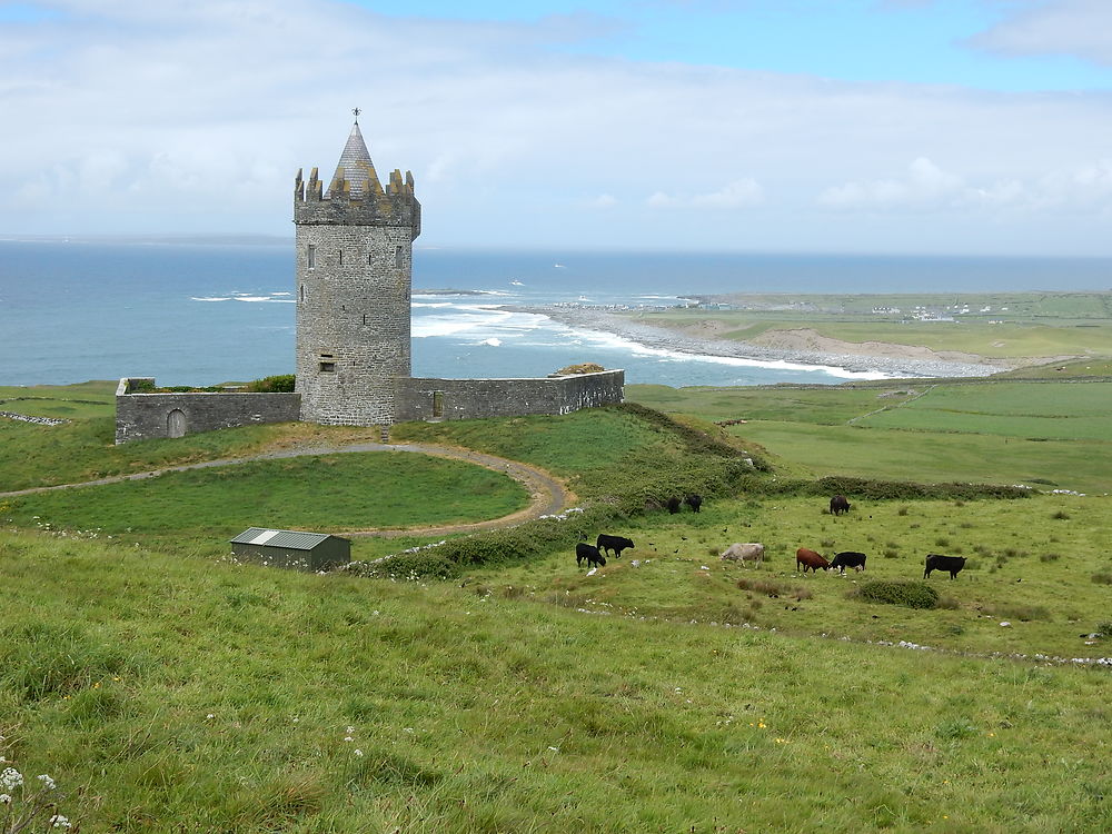
[[(1112, 254), (1105, 93), (550, 48), (610, 24), (586, 17), (449, 23), (321, 0), (52, 6), (60, 18), (0, 28), (2, 232), (288, 235), (295, 172), (330, 177), (359, 106), (379, 173), (414, 171), (427, 245), (898, 250), (930, 232), (957, 251)], [(585, 207), (606, 209), (605, 222)], [(961, 222), (936, 210), (955, 208)]]

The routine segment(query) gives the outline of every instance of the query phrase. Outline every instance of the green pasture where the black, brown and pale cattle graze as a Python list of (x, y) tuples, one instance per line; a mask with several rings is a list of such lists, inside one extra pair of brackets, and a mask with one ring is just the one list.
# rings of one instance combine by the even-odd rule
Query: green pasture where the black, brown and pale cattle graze
[[(568, 548), (546, 559), (468, 575), (495, 594), (613, 616), (676, 623), (749, 624), (795, 635), (910, 641), (954, 652), (1062, 657), (1112, 654), (1112, 639), (1085, 645), (1082, 633), (1112, 622), (1112, 536), (1106, 497), (1037, 495), (1015, 500), (867, 500), (850, 496), (848, 515), (831, 516), (826, 498), (749, 496), (707, 502), (703, 510), (658, 513), (606, 529), (636, 545), (594, 575)], [(734, 542), (759, 542), (759, 569), (723, 562)], [(795, 552), (833, 558), (867, 556), (866, 569), (800, 575)], [(853, 599), (870, 579), (922, 579), (926, 554), (965, 556), (957, 579), (932, 574), (946, 607), (916, 610)], [(1106, 580), (1094, 582), (1105, 576)], [(755, 580), (767, 588), (739, 588)], [(1011, 623), (1001, 626), (1001, 622)]]

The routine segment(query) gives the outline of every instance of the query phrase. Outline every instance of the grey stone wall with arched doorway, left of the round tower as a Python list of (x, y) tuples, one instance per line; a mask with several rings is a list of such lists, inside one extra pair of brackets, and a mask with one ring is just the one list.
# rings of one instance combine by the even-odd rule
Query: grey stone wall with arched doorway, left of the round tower
[[(145, 377), (150, 379), (150, 377)], [(140, 379), (140, 377), (136, 377)], [(155, 381), (150, 379), (150, 381)], [(298, 394), (129, 394), (130, 378), (116, 389), (116, 443), (170, 436), (171, 420), (183, 434), (298, 419)], [(180, 411), (180, 417), (171, 413)]]

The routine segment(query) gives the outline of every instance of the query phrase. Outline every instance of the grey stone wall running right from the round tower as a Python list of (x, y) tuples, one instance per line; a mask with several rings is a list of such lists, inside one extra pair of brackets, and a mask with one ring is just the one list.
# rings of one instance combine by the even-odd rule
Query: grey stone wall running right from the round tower
[[(569, 414), (620, 403), (624, 384), (623, 370), (535, 379), (403, 379), (398, 383), (397, 419)], [(434, 413), (437, 400), (440, 414)]]

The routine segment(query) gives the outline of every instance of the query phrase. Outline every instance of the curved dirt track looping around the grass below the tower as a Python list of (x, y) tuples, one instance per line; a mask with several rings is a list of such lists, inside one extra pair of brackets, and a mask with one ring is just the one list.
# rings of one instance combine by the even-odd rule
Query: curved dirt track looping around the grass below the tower
[(470, 533), (475, 530), (498, 529), (502, 527), (513, 527), (543, 515), (555, 515), (564, 509), (574, 498), (564, 485), (546, 473), (528, 464), (517, 460), (486, 455), (481, 451), (456, 448), (453, 446), (437, 446), (421, 443), (361, 443), (350, 446), (314, 446), (294, 449), (282, 449), (269, 451), (261, 455), (241, 458), (221, 458), (219, 460), (205, 460), (199, 464), (183, 464), (181, 466), (167, 466), (162, 469), (133, 473), (131, 475), (113, 475), (108, 478), (97, 478), (96, 480), (85, 480), (79, 484), (59, 484), (48, 487), (32, 487), (30, 489), (17, 489), (8, 493), (0, 493), (0, 498), (14, 498), (22, 495), (33, 495), (36, 493), (50, 493), (56, 489), (80, 489), (81, 487), (102, 486), (105, 484), (119, 484), (125, 480), (143, 480), (155, 478), (171, 471), (186, 471), (188, 469), (208, 469), (218, 466), (237, 466), (252, 460), (276, 460), (290, 457), (306, 457), (315, 455), (339, 455), (355, 451), (410, 451), (418, 455), (431, 455), (434, 457), (451, 458), (463, 460), (476, 466), (481, 466), (494, 471), (500, 471), (516, 480), (529, 490), (529, 505), (525, 509), (519, 509), (502, 518), (490, 518), (484, 522), (471, 522), (468, 524), (449, 524), (437, 527), (409, 527), (391, 529), (366, 529), (345, 530), (345, 536), (439, 536), (451, 533)]

